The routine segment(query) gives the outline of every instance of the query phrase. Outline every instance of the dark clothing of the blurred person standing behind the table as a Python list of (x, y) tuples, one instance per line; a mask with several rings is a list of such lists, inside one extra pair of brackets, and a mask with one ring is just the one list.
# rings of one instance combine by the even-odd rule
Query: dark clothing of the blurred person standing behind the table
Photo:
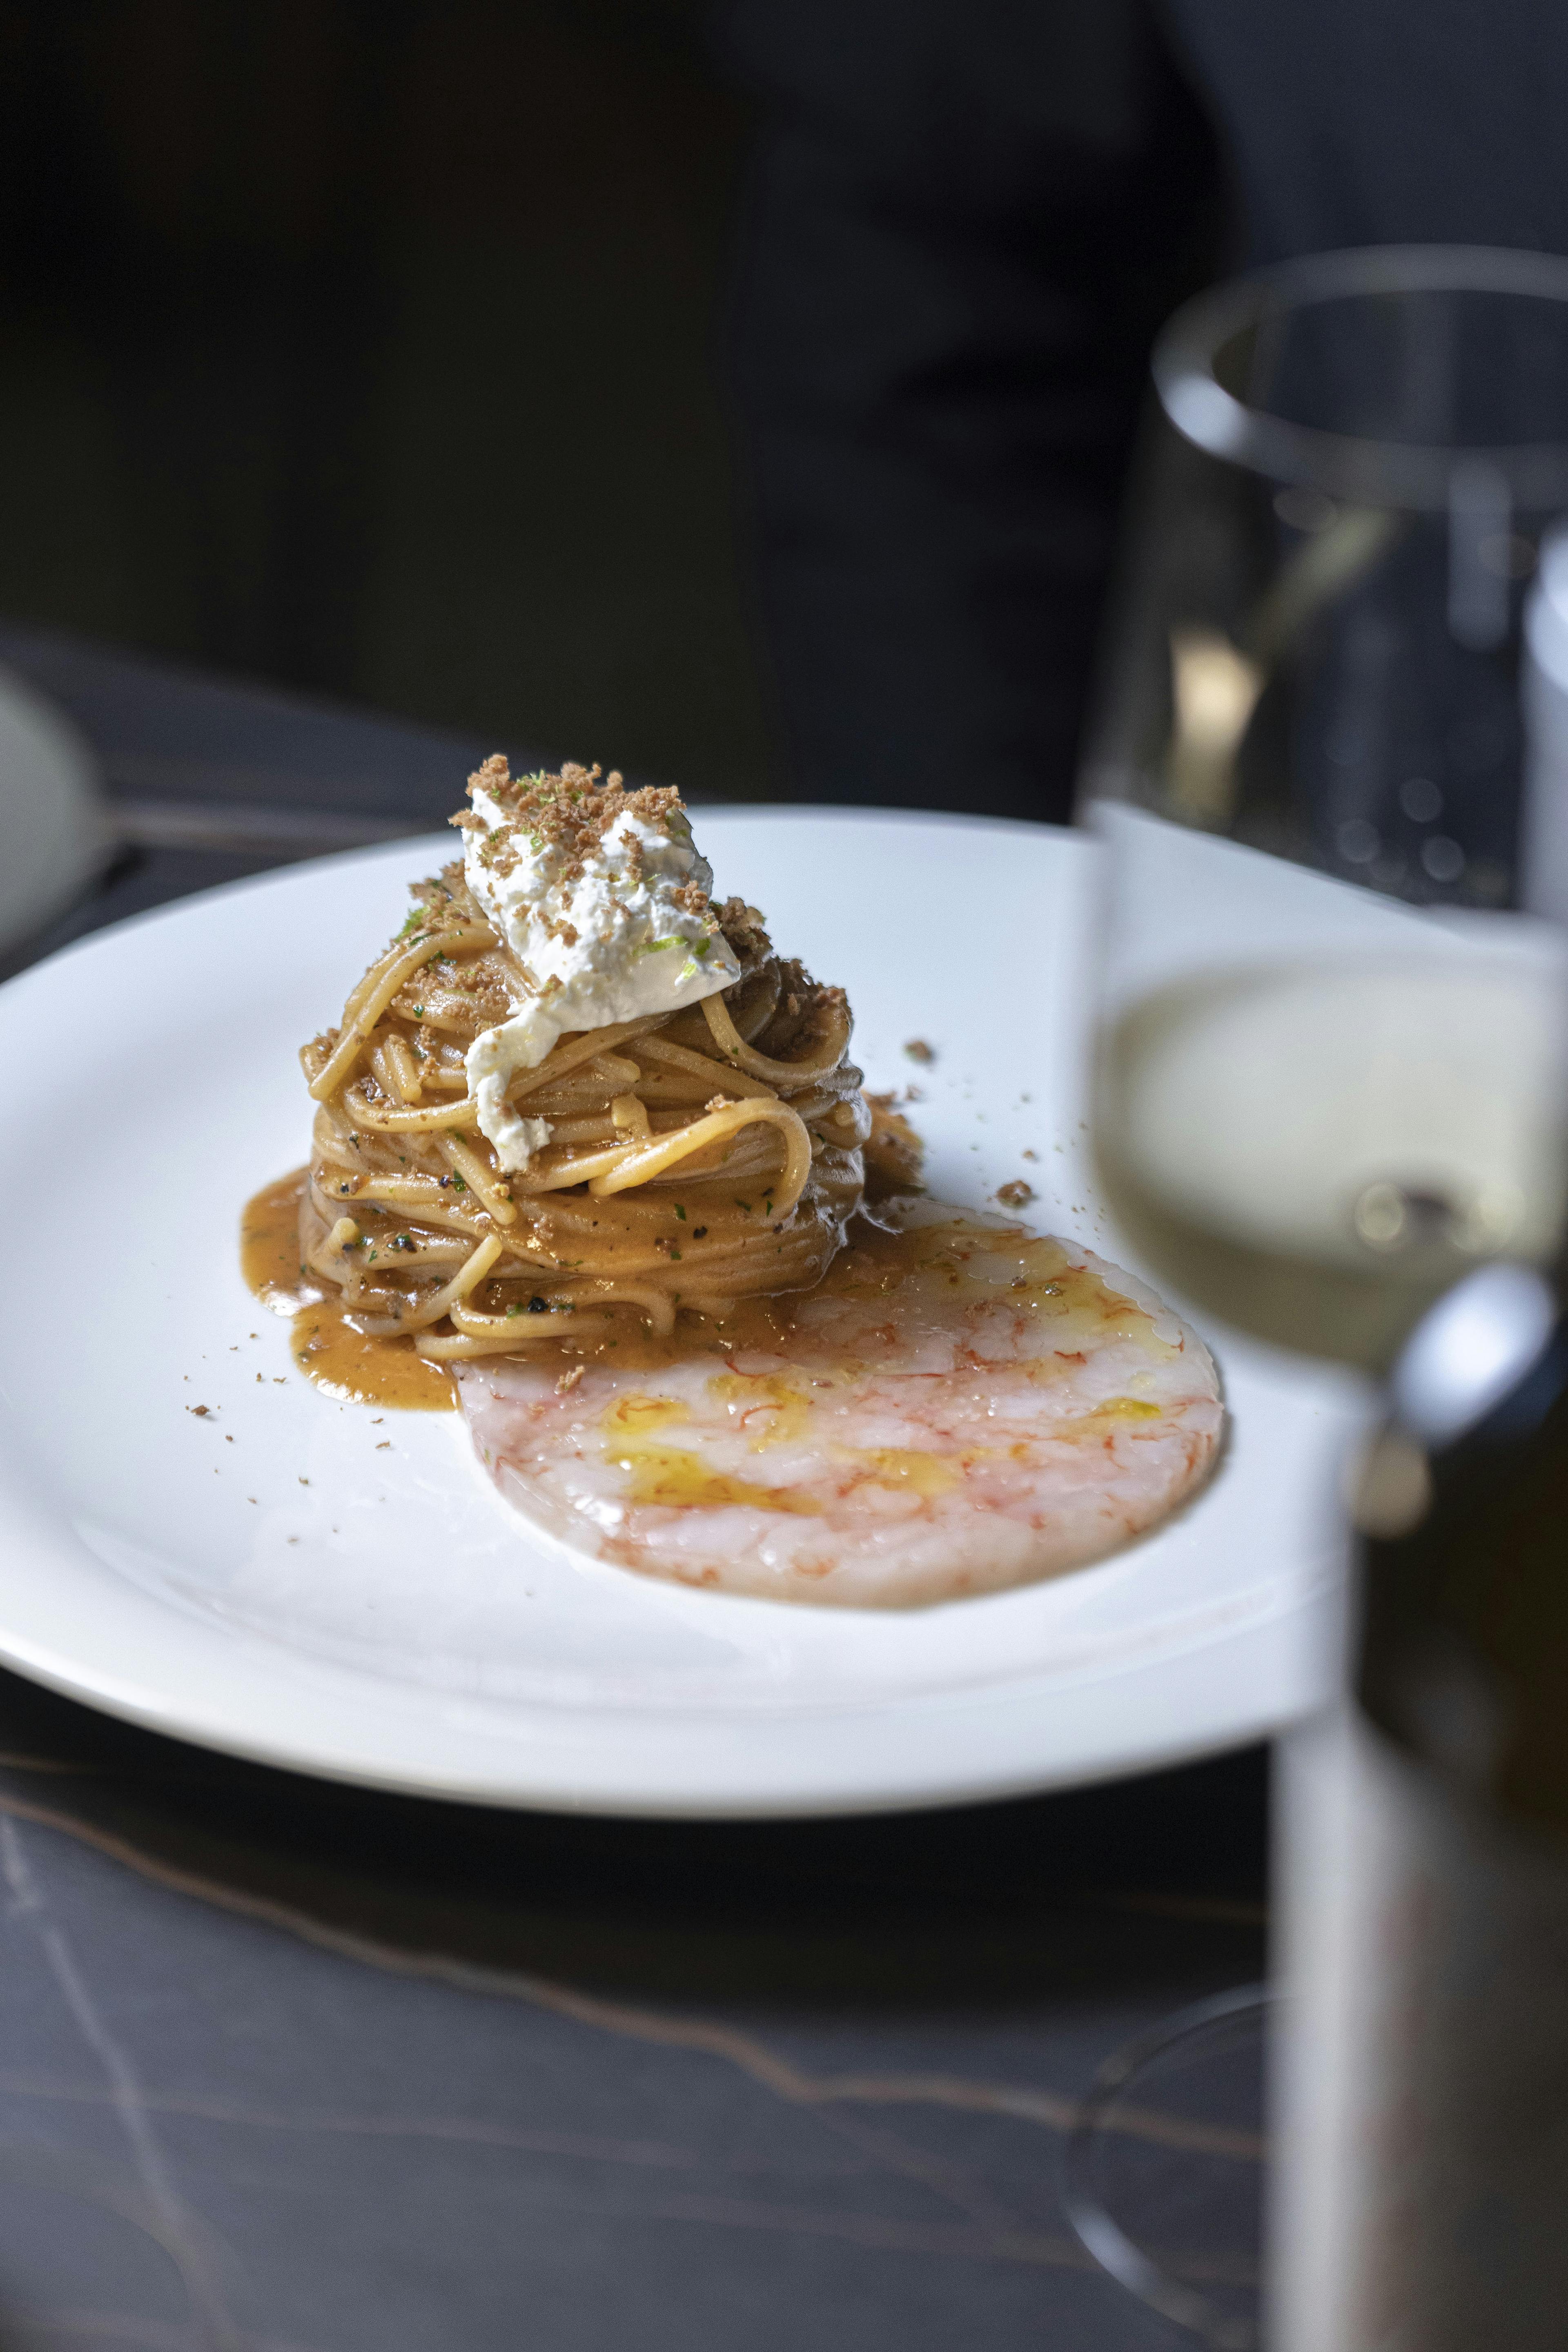
[(1340, 245), (1568, 252), (1568, 12), (731, 0), (733, 386), (788, 786), (1060, 818), (1185, 292)]

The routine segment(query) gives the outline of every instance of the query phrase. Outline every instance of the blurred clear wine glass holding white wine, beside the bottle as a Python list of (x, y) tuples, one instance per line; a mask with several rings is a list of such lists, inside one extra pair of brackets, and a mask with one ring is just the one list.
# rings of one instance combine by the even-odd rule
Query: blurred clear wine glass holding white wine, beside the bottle
[[(1081, 776), (1095, 1157), (1124, 1254), (1220, 1355), (1232, 1327), (1380, 1378), (1458, 1277), (1563, 1228), (1568, 985), (1526, 917), (1568, 913), (1568, 774), (1523, 616), (1568, 508), (1568, 263), (1288, 263), (1180, 310), (1154, 390)], [(1088, 2251), (1229, 2345), (1258, 2197), (1192, 2176), (1215, 2300), (1161, 2256), (1171, 2183), (1117, 2171), (1112, 2110), (1173, 2067), (1201, 2107), (1220, 2063), (1246, 2100), (1248, 2016), (1258, 2058), (1237, 1997), (1225, 2058), (1178, 2018), (1107, 2060), (1070, 2157)]]

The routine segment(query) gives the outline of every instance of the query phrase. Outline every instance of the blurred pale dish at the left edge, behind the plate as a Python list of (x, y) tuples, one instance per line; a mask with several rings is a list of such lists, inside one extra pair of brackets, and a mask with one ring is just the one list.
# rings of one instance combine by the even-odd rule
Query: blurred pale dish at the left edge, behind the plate
[(42, 931), (87, 887), (108, 844), (85, 739), (0, 670), (0, 948)]

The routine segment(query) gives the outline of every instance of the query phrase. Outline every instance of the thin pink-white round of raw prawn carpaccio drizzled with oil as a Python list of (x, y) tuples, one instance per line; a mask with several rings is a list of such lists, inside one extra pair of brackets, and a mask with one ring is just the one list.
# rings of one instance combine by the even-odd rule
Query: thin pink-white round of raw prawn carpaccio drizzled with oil
[(1079, 1569), (1201, 1482), (1222, 1423), (1201, 1338), (1131, 1275), (929, 1207), (860, 1218), (816, 1291), (574, 1343), (461, 1367), (501, 1491), (597, 1559), (769, 1599), (903, 1609)]

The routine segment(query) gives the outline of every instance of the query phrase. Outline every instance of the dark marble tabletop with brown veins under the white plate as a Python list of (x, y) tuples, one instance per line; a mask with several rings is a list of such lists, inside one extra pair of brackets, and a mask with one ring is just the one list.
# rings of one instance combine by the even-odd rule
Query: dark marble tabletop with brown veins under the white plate
[[(0, 659), (141, 842), (47, 946), (418, 830), (489, 748), (16, 630)], [(1260, 1973), (1262, 1882), (1260, 1752), (614, 1823), (313, 1783), (0, 1675), (0, 2352), (1190, 2340), (1079, 2251), (1063, 2136), (1114, 2044)]]

